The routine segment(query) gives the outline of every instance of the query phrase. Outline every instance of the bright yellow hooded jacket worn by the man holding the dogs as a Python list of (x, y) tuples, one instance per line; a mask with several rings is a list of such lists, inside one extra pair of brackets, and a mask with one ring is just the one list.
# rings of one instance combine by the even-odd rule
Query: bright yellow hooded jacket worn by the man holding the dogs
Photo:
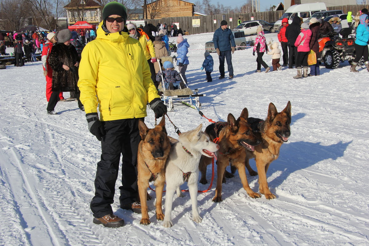
[(97, 112), (99, 104), (101, 121), (146, 117), (146, 104), (160, 97), (142, 46), (127, 32), (106, 34), (101, 25), (79, 65), (85, 112)]

